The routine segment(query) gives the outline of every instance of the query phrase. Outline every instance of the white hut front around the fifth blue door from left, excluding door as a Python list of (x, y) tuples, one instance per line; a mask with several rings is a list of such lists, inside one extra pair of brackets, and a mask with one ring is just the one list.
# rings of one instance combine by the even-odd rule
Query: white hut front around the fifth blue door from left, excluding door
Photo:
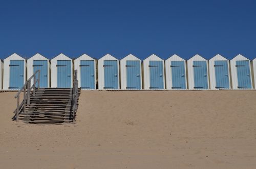
[(117, 61), (117, 77), (118, 77), (118, 89), (120, 88), (119, 84), (119, 60), (111, 56), (110, 54), (106, 54), (102, 58), (98, 60), (98, 88), (100, 90), (104, 90), (104, 60), (116, 60)]

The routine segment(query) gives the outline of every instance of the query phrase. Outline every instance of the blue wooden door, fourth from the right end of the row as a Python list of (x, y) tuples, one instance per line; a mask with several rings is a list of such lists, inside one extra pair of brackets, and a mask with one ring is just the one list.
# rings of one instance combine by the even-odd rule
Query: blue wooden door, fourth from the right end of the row
[(184, 61), (171, 61), (172, 89), (186, 89)]

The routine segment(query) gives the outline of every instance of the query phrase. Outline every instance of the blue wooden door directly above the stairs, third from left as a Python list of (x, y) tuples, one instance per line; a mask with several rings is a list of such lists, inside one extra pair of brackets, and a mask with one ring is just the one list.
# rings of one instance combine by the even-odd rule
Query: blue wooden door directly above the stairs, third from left
[(57, 60), (57, 87), (71, 88), (71, 60)]

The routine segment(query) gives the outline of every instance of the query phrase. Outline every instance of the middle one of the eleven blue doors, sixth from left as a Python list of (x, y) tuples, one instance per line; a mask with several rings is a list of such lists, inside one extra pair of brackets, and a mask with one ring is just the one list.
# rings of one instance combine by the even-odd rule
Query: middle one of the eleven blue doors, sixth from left
[(126, 89), (141, 89), (140, 61), (126, 61)]

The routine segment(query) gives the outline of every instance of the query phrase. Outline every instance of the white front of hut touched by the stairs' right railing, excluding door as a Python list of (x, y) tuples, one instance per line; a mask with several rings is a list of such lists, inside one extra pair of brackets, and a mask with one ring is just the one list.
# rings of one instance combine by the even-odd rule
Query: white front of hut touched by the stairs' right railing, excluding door
[(96, 60), (88, 56), (87, 54), (83, 54), (82, 56), (78, 57), (74, 61), (74, 69), (77, 70), (77, 80), (78, 80), (78, 87), (81, 87), (81, 69), (80, 69), (80, 61), (81, 60), (92, 60), (94, 61), (94, 85), (96, 89)]

